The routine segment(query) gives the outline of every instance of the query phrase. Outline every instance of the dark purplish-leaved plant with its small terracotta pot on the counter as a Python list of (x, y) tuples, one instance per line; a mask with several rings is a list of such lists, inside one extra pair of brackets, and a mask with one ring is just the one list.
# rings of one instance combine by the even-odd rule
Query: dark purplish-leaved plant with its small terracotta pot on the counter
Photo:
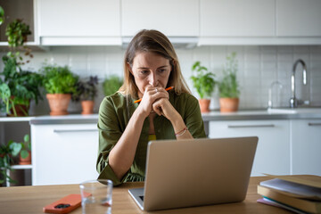
[(81, 101), (82, 114), (92, 114), (94, 111), (95, 96), (97, 95), (98, 78), (90, 76), (87, 80), (78, 82), (77, 100)]

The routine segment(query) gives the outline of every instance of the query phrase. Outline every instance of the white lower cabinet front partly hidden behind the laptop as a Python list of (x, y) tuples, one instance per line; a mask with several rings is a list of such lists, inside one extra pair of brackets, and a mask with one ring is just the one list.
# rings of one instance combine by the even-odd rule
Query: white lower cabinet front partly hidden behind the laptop
[(210, 121), (210, 138), (258, 136), (251, 176), (286, 175), (290, 174), (289, 124), (289, 120), (274, 119)]

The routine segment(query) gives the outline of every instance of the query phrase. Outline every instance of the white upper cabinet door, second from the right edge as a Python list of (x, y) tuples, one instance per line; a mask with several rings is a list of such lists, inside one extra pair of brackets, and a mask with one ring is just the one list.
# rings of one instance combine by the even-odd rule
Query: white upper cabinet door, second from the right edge
[(201, 37), (275, 36), (274, 0), (201, 0)]

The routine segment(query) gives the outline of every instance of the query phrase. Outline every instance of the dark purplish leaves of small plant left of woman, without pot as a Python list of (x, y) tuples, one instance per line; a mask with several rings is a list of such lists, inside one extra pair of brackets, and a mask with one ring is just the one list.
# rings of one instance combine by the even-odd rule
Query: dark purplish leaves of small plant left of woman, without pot
[(94, 101), (95, 96), (97, 95), (97, 86), (98, 85), (98, 77), (90, 76), (88, 79), (78, 81), (78, 93), (75, 100), (91, 100)]

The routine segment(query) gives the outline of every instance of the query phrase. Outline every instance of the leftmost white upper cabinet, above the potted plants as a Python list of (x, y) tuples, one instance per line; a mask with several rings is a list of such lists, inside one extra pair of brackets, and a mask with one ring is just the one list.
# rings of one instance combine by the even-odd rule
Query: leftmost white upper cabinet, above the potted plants
[(120, 45), (119, 0), (41, 0), (41, 45)]

